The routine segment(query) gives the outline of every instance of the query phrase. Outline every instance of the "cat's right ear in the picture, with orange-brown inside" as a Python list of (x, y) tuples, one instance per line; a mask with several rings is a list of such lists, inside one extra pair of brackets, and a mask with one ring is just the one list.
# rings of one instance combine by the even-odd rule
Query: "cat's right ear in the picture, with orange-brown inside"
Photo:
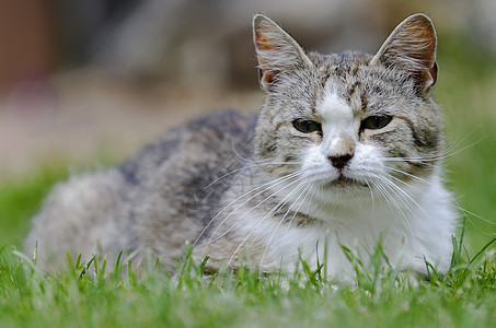
[(410, 71), (418, 90), (424, 92), (437, 80), (436, 46), (436, 30), (430, 19), (414, 14), (394, 28), (371, 63), (381, 61)]

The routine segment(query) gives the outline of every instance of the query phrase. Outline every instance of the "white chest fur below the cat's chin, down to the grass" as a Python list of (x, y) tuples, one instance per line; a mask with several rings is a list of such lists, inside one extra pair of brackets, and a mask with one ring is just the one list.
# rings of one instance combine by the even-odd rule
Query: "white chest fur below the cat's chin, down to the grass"
[[(249, 227), (252, 233), (256, 231), (254, 235), (267, 245), (261, 265), (264, 267), (270, 260), (292, 271), (301, 255), (314, 268), (318, 258), (321, 263), (325, 262), (334, 279), (353, 279), (353, 265), (343, 246), (367, 263), (382, 238), (389, 261), (401, 270), (426, 272), (427, 260), (445, 271), (449, 268), (452, 253), (455, 215), (450, 206), (450, 195), (440, 179), (435, 176), (427, 186), (424, 192), (413, 195), (410, 203), (396, 201), (395, 204), (401, 203), (397, 207), (392, 206), (392, 201), (376, 199), (373, 207), (357, 203), (355, 207), (325, 208), (309, 203), (311, 198), (302, 200), (300, 197), (303, 203), (298, 208), (310, 211), (307, 214), (315, 221), (296, 226), (265, 218), (263, 224)], [(253, 218), (252, 222), (259, 221)]]

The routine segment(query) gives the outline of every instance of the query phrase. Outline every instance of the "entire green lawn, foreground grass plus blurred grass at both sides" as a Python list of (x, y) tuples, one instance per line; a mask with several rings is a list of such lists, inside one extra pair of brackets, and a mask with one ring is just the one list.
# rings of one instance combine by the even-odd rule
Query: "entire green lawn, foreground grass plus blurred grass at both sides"
[[(496, 327), (496, 61), (470, 42), (440, 39), (437, 97), (455, 144), (447, 184), (469, 211), (448, 274), (426, 282), (357, 265), (354, 285), (335, 285), (304, 262), (293, 277), (261, 278), (203, 277), (186, 260), (170, 279), (101, 259), (96, 271), (74, 261), (46, 274), (16, 249), (43, 196), (67, 177), (57, 164), (0, 185), (0, 327)], [(373, 259), (384, 260), (380, 248)]]

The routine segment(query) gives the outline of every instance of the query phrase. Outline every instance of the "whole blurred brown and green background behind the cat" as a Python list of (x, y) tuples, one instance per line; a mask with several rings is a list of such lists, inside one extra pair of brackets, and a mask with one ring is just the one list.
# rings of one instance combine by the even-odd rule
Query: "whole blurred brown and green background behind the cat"
[(495, 1), (18, 0), (0, 3), (0, 244), (22, 245), (71, 172), (118, 163), (200, 113), (256, 110), (255, 12), (324, 52), (376, 51), (404, 17), (429, 14), (455, 145), (447, 184), (469, 211), (470, 250), (495, 235)]

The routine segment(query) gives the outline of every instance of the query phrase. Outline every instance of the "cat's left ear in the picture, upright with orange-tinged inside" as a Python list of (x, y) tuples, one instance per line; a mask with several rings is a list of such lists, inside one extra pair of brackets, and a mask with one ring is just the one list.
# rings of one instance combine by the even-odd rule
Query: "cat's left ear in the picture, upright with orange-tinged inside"
[(312, 62), (300, 45), (270, 19), (253, 17), (253, 42), (258, 59), (259, 83), (270, 91), (278, 74), (296, 67), (311, 67)]

